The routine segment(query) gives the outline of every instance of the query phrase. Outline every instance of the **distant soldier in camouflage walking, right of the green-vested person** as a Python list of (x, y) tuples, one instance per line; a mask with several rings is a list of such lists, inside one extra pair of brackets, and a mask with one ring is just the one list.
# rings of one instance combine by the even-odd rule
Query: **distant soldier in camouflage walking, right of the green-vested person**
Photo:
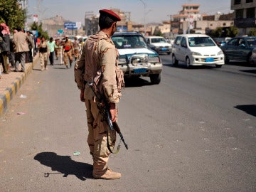
[(65, 36), (65, 41), (63, 41), (63, 49), (64, 49), (64, 64), (68, 69), (68, 60), (70, 62), (70, 68), (72, 67), (73, 63), (73, 54), (74, 54), (74, 47), (73, 43), (68, 36)]

